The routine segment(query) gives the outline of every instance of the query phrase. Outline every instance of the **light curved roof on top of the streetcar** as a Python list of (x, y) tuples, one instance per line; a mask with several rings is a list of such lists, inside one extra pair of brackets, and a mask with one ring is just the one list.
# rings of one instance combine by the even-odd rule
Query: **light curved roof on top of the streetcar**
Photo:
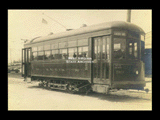
[(87, 27), (82, 27), (79, 29), (65, 31), (65, 32), (61, 32), (61, 33), (56, 33), (53, 35), (36, 37), (36, 38), (32, 39), (30, 41), (30, 43), (36, 43), (36, 42), (40, 42), (40, 41), (52, 40), (52, 39), (56, 39), (56, 38), (78, 35), (78, 34), (83, 34), (83, 33), (89, 33), (89, 32), (93, 32), (93, 31), (99, 31), (99, 30), (110, 29), (110, 28), (120, 28), (123, 30), (126, 29), (126, 30), (133, 30), (136, 32), (144, 33), (142, 28), (140, 28), (139, 26), (137, 26), (133, 23), (124, 22), (124, 21), (113, 21), (113, 22), (105, 22), (105, 23), (100, 23), (100, 24), (91, 25), (91, 26), (87, 26)]

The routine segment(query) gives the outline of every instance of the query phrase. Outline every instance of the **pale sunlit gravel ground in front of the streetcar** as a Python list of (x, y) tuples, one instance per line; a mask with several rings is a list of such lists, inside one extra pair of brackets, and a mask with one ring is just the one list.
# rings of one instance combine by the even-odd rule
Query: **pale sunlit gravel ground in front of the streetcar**
[[(146, 88), (151, 89), (151, 82)], [(8, 110), (152, 110), (152, 91), (119, 90), (110, 95), (69, 94), (27, 83), (18, 74), (8, 74)]]

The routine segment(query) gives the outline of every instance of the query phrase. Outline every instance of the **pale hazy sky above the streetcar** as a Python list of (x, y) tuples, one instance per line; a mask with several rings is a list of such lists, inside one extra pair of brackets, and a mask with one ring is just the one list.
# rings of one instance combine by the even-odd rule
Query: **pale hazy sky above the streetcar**
[[(48, 17), (49, 16), (49, 17)], [(46, 36), (50, 32), (59, 33), (67, 29), (110, 22), (126, 21), (126, 9), (94, 10), (8, 10), (8, 63), (21, 60), (23, 40)], [(42, 18), (47, 24), (42, 23)], [(60, 24), (59, 25), (57, 22)], [(140, 26), (146, 33), (152, 31), (152, 10), (131, 10), (131, 22)]]

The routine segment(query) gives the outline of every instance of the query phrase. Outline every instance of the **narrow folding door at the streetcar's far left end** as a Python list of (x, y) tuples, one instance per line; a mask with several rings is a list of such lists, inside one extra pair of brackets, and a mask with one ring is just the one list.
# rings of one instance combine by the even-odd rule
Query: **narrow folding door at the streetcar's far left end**
[(22, 49), (22, 76), (31, 76), (31, 48)]

